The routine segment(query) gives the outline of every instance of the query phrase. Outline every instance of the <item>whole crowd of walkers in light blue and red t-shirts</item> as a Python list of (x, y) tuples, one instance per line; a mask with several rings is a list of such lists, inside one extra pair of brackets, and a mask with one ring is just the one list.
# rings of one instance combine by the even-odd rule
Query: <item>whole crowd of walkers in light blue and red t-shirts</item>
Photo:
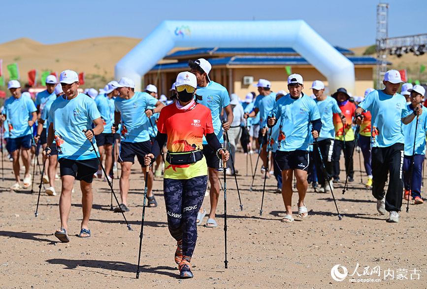
[[(425, 90), (405, 83), (397, 93), (402, 82), (398, 72), (387, 72), (385, 88), (368, 88), (363, 98), (352, 97), (345, 88), (327, 96), (320, 80), (312, 83), (312, 95), (306, 95), (303, 77), (292, 74), (286, 90), (273, 92), (270, 81), (260, 79), (254, 85), (258, 94), (248, 93), (240, 101), (209, 78), (207, 60), (189, 61), (189, 67), (190, 72), (177, 75), (168, 97), (159, 97), (153, 84), (137, 92), (128, 77), (110, 81), (99, 92), (91, 88), (80, 93), (78, 75), (70, 70), (62, 72), (59, 80), (49, 75), (46, 90), (35, 101), (28, 92), (21, 93), (19, 81), (8, 83), (12, 96), (4, 103), (1, 120), (16, 179), (11, 189), (32, 185), (31, 163), (35, 168), (41, 147), (45, 193), (57, 195), (54, 182), (61, 179), (61, 227), (55, 231), (61, 242), (69, 242), (66, 230), (75, 180), (82, 191), (79, 237), (91, 236), (94, 178), (108, 182), (119, 178), (121, 202), (114, 212), (131, 210), (128, 193), (135, 156), (143, 172), (152, 166), (144, 174), (147, 207), (157, 207), (153, 180), (163, 175), (168, 228), (177, 241), (174, 258), (182, 278), (193, 276), (190, 261), (197, 225), (218, 226), (219, 171), (224, 166), (228, 175), (234, 175), (235, 167), (243, 169), (242, 162), (233, 163), (239, 147), (245, 154), (259, 153), (262, 176), (276, 179), (276, 192), (282, 194), (286, 211), (283, 222), (294, 221), (294, 178), (300, 218), (309, 214), (304, 202), (309, 183), (323, 193), (343, 182), (339, 179), (342, 156), (347, 180), (355, 181), (351, 159), (355, 146), (363, 155), (365, 185), (372, 189), (378, 212), (389, 212), (388, 221), (398, 221), (402, 197), (423, 203)], [(22, 182), (20, 158), (25, 168)]]

